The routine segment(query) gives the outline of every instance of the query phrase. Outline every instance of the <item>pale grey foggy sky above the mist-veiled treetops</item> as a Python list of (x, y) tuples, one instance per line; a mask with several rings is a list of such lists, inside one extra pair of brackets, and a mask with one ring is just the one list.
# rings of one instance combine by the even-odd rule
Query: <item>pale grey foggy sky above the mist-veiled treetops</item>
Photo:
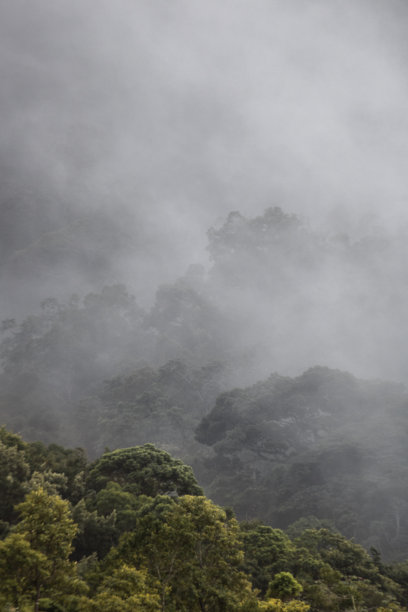
[(158, 281), (205, 258), (230, 210), (400, 226), (407, 14), (403, 0), (0, 0), (3, 188), (28, 208), (46, 194), (55, 223), (107, 210), (151, 245)]

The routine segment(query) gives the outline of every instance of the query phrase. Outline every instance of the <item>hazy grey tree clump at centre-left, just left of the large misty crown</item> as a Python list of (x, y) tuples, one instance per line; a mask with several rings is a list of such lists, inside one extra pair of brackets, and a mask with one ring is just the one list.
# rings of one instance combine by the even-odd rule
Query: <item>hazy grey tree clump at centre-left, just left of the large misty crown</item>
[(194, 456), (200, 450), (192, 432), (223, 382), (221, 364), (196, 369), (181, 361), (109, 379), (77, 411), (84, 442), (93, 453), (152, 442), (183, 458)]

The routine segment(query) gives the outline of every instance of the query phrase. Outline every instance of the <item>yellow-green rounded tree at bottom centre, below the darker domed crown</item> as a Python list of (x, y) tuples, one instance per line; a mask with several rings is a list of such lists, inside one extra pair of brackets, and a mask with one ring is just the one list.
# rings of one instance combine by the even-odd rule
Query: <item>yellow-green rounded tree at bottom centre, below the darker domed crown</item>
[(118, 548), (128, 562), (146, 564), (161, 587), (163, 609), (237, 610), (250, 584), (238, 524), (204, 497), (186, 495), (152, 506)]

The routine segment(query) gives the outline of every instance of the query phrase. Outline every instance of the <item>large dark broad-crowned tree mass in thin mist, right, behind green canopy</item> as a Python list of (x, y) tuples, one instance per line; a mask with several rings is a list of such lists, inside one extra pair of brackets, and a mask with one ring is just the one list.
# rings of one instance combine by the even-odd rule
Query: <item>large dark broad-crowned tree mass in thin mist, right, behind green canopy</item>
[(286, 528), (314, 516), (385, 556), (402, 554), (407, 405), (399, 385), (328, 368), (273, 375), (218, 397), (196, 433), (215, 456), (197, 473), (240, 518)]

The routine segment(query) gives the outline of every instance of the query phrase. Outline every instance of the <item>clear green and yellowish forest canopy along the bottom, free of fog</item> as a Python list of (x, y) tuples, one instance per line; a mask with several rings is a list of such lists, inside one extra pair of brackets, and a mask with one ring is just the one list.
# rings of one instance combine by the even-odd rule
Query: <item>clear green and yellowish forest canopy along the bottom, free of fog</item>
[[(18, 467), (17, 467), (18, 466)], [(406, 563), (315, 520), (239, 523), (152, 444), (106, 452), (0, 430), (4, 610), (405, 610)]]

